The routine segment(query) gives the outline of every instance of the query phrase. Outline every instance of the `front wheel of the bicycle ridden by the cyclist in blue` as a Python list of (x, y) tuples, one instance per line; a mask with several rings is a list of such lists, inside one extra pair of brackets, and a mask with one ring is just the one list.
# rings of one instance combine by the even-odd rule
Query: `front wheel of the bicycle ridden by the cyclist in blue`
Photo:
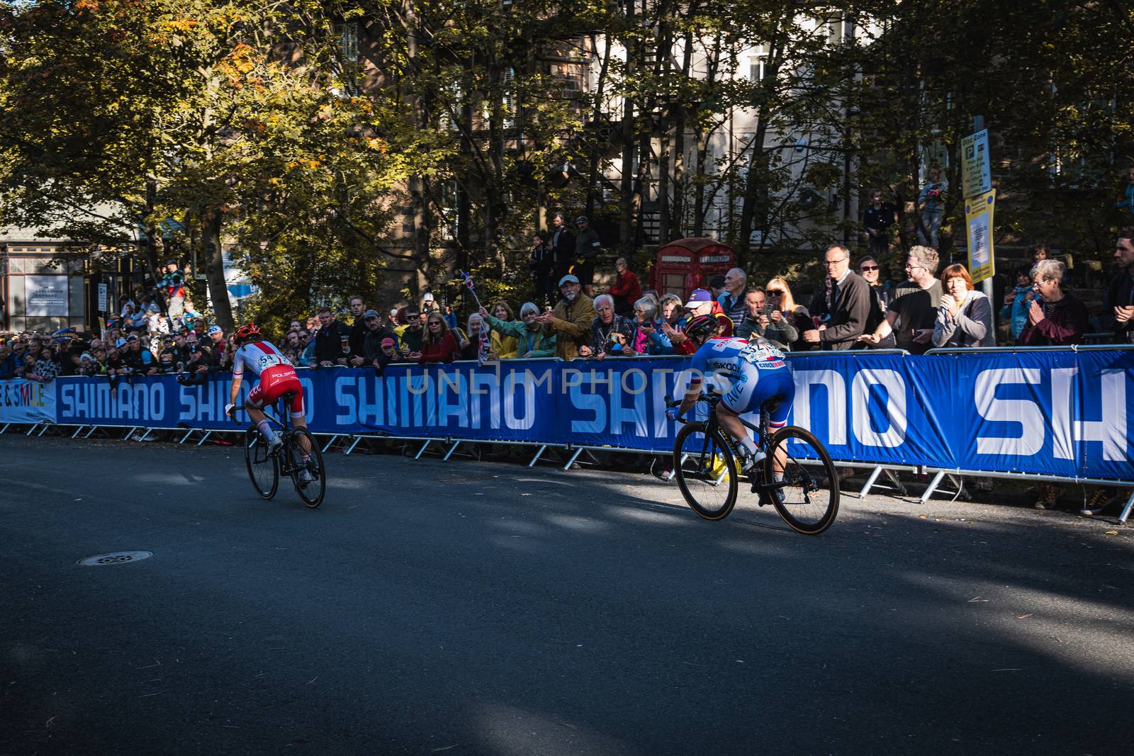
[(686, 423), (674, 441), (674, 474), (685, 501), (706, 520), (728, 517), (736, 506), (736, 459), (720, 428)]

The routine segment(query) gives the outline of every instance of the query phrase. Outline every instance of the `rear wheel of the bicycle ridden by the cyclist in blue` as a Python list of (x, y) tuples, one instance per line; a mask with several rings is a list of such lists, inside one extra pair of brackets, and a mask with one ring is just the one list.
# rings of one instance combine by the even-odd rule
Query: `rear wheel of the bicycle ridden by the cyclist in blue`
[(784, 466), (784, 486), (772, 491), (772, 504), (793, 530), (818, 535), (829, 528), (839, 512), (839, 474), (830, 455), (802, 427), (777, 431), (764, 460), (764, 479), (776, 479), (777, 458)]

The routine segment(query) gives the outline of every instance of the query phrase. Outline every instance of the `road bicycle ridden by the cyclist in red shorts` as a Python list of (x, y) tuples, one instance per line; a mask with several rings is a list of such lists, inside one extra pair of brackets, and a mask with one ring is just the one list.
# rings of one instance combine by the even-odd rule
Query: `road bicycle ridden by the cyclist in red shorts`
[[(308, 508), (314, 509), (323, 503), (327, 494), (327, 468), (323, 466), (323, 455), (315, 443), (315, 438), (305, 427), (291, 425), (291, 400), (295, 392), (288, 391), (280, 397), (276, 407), (276, 417), (266, 415), (268, 422), (272, 424), (272, 430), (284, 443), (271, 451), (268, 439), (255, 425), (248, 426), (244, 432), (244, 464), (248, 468), (248, 477), (256, 493), (261, 499), (272, 499), (279, 490), (280, 475), (291, 478), (295, 492)], [(244, 407), (234, 407), (232, 419), (236, 421), (236, 413), (244, 411)], [(277, 417), (282, 417), (280, 422)], [(311, 457), (306, 464), (303, 461), (303, 447), (299, 439), (307, 439), (311, 447)], [(306, 482), (299, 479), (299, 474), (306, 469), (314, 481)]]

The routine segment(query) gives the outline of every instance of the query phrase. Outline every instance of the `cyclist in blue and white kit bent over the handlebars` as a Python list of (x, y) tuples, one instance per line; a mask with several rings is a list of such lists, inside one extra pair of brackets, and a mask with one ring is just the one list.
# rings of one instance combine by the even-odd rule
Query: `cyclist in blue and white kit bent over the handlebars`
[[(764, 458), (756, 448), (738, 415), (759, 410), (772, 398), (779, 402), (770, 407), (769, 426), (781, 428), (787, 424), (795, 399), (795, 380), (784, 360), (784, 352), (763, 338), (716, 338), (720, 322), (712, 315), (699, 315), (689, 321), (685, 334), (694, 340), (693, 375), (680, 407), (670, 408), (666, 416), (677, 419), (697, 402), (705, 383), (722, 394), (717, 405), (717, 419), (739, 443), (741, 467), (751, 472)], [(777, 470), (779, 466), (777, 466)]]

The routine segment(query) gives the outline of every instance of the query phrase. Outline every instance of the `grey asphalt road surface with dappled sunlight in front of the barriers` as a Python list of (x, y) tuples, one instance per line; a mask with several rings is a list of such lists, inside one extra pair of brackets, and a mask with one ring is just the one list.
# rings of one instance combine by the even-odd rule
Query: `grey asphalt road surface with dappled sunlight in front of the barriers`
[[(1128, 754), (1114, 518), (0, 436), (0, 754)], [(125, 564), (82, 567), (145, 550)]]

